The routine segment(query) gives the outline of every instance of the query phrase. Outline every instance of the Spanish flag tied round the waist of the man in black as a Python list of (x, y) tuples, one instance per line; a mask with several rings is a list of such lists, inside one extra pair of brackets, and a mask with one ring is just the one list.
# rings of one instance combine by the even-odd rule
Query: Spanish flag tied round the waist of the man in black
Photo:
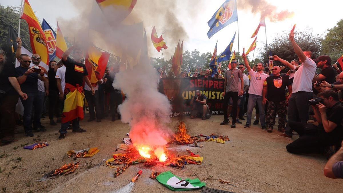
[(75, 87), (72, 84), (66, 83), (64, 93), (67, 94), (64, 100), (61, 122), (67, 123), (75, 118), (83, 120), (83, 99), (85, 95), (83, 94), (82, 85), (77, 84)]

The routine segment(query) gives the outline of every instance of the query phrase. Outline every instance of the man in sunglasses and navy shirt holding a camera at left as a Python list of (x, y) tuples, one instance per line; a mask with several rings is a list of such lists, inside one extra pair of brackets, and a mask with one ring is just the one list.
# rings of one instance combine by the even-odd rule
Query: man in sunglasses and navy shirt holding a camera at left
[[(30, 68), (31, 58), (27, 54), (21, 54), (18, 57), (18, 60), (20, 62), (20, 66), (15, 68), (16, 77), (21, 90), (28, 96), (27, 100), (21, 99), (24, 106), (24, 129), (27, 137), (33, 137), (34, 135), (32, 131), (46, 131), (45, 128), (39, 125), (42, 111), (38, 108), (41, 108), (40, 106), (42, 106), (42, 98), (39, 97), (37, 86), (38, 79), (43, 82), (45, 81), (44, 71), (39, 68)], [(33, 118), (34, 128), (32, 129), (31, 116), (33, 106), (35, 107), (35, 115)]]

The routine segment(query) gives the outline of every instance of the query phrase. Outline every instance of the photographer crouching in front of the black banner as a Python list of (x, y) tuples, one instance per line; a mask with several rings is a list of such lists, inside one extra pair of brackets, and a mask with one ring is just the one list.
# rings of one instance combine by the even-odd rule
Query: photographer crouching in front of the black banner
[(196, 118), (199, 115), (202, 116), (202, 120), (210, 118), (209, 116), (206, 117), (206, 113), (208, 112), (208, 106), (206, 104), (207, 97), (204, 94), (201, 94), (199, 90), (196, 90), (195, 94), (196, 96), (192, 98), (190, 103), (190, 105), (193, 105), (191, 118)]

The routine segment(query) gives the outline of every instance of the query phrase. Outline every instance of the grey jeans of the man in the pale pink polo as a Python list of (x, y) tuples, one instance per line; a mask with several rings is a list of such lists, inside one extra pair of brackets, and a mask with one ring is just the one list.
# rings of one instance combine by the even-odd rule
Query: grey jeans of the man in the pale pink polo
[(248, 108), (247, 108), (247, 124), (251, 125), (251, 114), (252, 110), (257, 102), (259, 110), (260, 110), (260, 122), (261, 126), (265, 126), (265, 107), (262, 105), (262, 96), (256, 94), (249, 94), (248, 99)]

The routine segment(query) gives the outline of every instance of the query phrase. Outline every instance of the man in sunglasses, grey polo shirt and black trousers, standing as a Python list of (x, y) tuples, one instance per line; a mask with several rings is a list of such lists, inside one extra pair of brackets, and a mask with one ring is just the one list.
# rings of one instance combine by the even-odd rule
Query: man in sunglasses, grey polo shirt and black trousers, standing
[[(227, 107), (229, 104), (230, 98), (232, 98), (232, 124), (231, 128), (236, 127), (236, 120), (237, 120), (237, 101), (238, 95), (243, 95), (243, 88), (244, 88), (244, 80), (243, 80), (243, 73), (242, 71), (238, 70), (237, 68), (237, 61), (233, 59), (231, 61), (231, 69), (225, 72), (225, 81), (224, 81), (224, 100), (223, 100), (223, 108), (224, 108), (224, 121), (221, 122), (221, 125), (226, 125), (229, 123), (227, 118)], [(238, 87), (238, 80), (240, 80), (240, 90)]]

